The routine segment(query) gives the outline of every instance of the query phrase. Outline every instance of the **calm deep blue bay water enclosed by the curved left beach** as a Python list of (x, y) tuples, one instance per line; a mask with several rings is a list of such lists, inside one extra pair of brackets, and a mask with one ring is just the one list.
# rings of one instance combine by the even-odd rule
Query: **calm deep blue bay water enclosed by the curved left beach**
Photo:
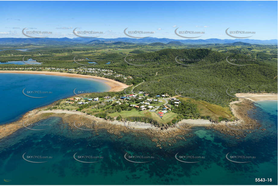
[[(0, 124), (17, 120), (29, 110), (72, 96), (75, 88), (76, 93), (78, 90), (91, 92), (110, 89), (103, 82), (63, 76), (0, 73), (0, 79)], [(22, 93), (24, 88), (24, 93), (29, 96), (46, 98), (27, 97)], [(28, 94), (28, 91), (38, 93)]]

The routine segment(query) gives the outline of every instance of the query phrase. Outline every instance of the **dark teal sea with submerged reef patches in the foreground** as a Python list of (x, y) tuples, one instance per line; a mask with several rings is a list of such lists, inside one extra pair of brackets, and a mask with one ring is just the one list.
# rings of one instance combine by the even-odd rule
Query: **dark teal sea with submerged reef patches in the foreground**
[[(57, 81), (57, 79), (56, 79)], [(12, 81), (10, 81), (12, 83)], [(14, 82), (14, 86), (21, 83)], [(29, 85), (22, 82), (23, 86)], [(38, 85), (38, 84), (37, 84)], [(57, 87), (53, 84), (53, 87)], [(60, 86), (60, 85), (59, 85)], [(46, 86), (47, 87), (47, 86)], [(21, 86), (22, 88), (22, 86)], [(13, 90), (13, 89), (12, 89)], [(99, 90), (98, 90), (99, 91)], [(17, 99), (10, 99), (16, 102)], [(39, 100), (39, 99), (36, 99)], [(5, 104), (6, 105), (6, 104)], [(105, 129), (71, 129), (59, 117), (50, 117), (33, 131), (19, 129), (0, 140), (0, 177), (3, 184), (277, 184), (277, 101), (258, 102), (248, 114), (266, 131), (255, 129), (246, 138), (236, 139), (213, 129), (200, 128), (186, 139), (168, 139), (161, 149), (140, 132), (113, 135)], [(171, 146), (169, 145), (171, 143)], [(164, 144), (164, 145), (163, 145)], [(24, 154), (25, 153), (25, 154)], [(77, 160), (96, 163), (81, 163)], [(137, 162), (133, 163), (124, 158)], [(188, 162), (183, 163), (175, 159)], [(226, 159), (226, 154), (234, 163)], [(23, 159), (34, 162), (30, 163)], [(29, 156), (51, 158), (32, 158)], [(82, 158), (78, 156), (103, 158)], [(131, 158), (140, 155), (153, 158)], [(203, 158), (180, 158), (194, 155)], [(244, 155), (252, 158), (233, 158)], [(254, 158), (255, 157), (255, 158)], [(272, 182), (255, 182), (272, 178)]]

